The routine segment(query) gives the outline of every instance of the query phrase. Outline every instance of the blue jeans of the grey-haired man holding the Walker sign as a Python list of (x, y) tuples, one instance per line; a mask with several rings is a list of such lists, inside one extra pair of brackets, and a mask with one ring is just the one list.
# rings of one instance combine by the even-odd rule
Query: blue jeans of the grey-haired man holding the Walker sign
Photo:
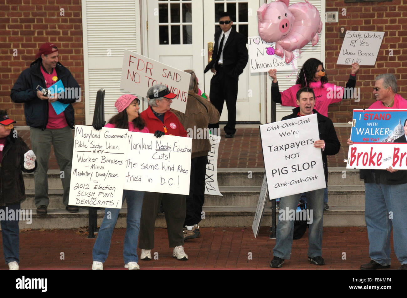
[[(390, 265), (390, 235), (393, 227), (394, 253), (407, 264), (407, 183), (385, 185), (365, 183), (365, 220), (369, 237), (369, 257)], [(392, 212), (389, 214), (389, 212)], [(389, 218), (390, 217), (390, 218)]]

